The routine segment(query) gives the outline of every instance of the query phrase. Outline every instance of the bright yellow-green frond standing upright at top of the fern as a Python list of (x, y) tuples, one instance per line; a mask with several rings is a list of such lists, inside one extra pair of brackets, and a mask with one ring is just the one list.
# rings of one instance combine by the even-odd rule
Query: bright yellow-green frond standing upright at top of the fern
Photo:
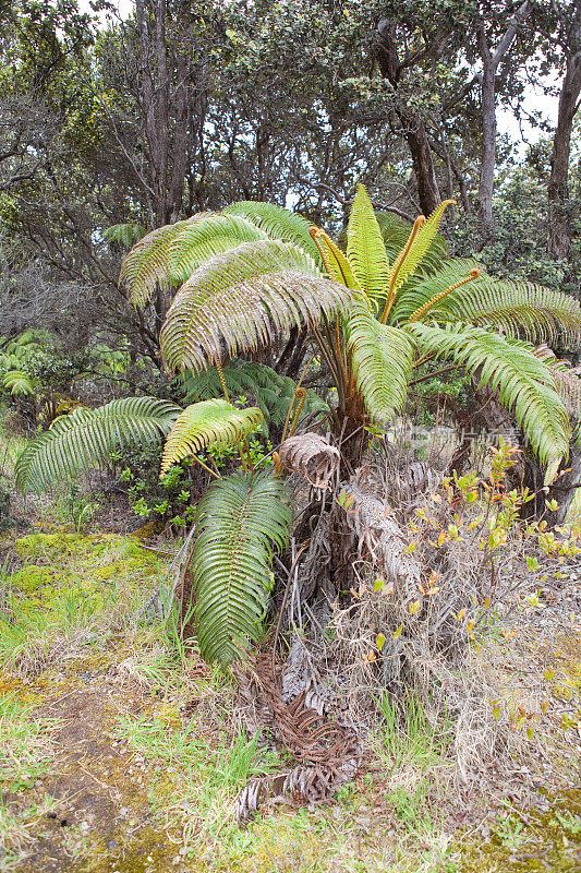
[(347, 228), (347, 258), (361, 288), (370, 297), (385, 295), (389, 261), (372, 202), (360, 184)]

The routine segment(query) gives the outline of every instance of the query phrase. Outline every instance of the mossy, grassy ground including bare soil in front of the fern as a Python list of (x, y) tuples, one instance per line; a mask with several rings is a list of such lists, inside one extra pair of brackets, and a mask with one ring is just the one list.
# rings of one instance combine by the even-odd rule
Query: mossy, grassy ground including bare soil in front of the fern
[[(0, 871), (581, 869), (579, 790), (540, 780), (538, 803), (523, 808), (499, 780), (460, 802), (421, 725), (410, 738), (386, 723), (366, 772), (335, 803), (281, 805), (239, 828), (239, 791), (281, 762), (240, 729), (230, 681), (183, 651), (171, 618), (144, 615), (169, 559), (109, 534), (35, 533), (4, 546)], [(564, 634), (557, 651), (547, 668), (568, 706), (579, 639)], [(581, 742), (576, 723), (564, 730)], [(570, 784), (574, 761), (573, 749)]]

